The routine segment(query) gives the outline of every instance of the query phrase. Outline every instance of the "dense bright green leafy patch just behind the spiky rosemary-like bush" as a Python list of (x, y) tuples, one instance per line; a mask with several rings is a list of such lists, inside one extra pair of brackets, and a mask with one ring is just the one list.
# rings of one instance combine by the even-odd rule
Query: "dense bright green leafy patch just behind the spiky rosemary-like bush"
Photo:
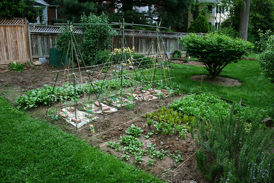
[[(174, 111), (181, 112), (183, 116), (193, 116), (201, 121), (207, 121), (219, 115), (229, 117), (232, 105), (219, 97), (202, 93), (200, 95), (188, 95), (178, 100), (175, 99), (169, 107)], [(250, 106), (242, 106), (239, 103), (235, 104), (234, 108), (236, 116), (247, 116), (247, 121), (249, 122), (256, 116), (258, 116), (260, 121), (268, 117), (268, 111), (264, 109), (258, 110)], [(258, 113), (256, 113), (256, 110), (258, 110)]]

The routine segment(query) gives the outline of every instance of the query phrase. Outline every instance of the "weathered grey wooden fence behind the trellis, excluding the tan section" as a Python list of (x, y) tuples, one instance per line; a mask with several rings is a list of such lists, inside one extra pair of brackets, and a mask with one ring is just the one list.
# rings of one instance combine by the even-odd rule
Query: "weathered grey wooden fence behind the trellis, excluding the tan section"
[[(32, 58), (45, 57), (49, 58), (49, 49), (54, 47), (54, 42), (58, 34), (60, 34), (58, 25), (29, 25), (29, 32), (32, 45)], [(116, 36), (112, 37), (112, 48), (121, 48), (122, 35), (119, 29), (114, 29)], [(75, 27), (75, 34), (82, 34), (80, 27)], [(157, 50), (158, 41), (155, 40), (155, 31), (125, 29), (126, 46), (135, 48), (135, 53), (145, 55), (149, 52), (152, 45), (151, 54)], [(186, 33), (181, 32), (161, 32), (162, 41), (167, 53), (173, 53), (175, 50), (183, 49), (178, 44), (179, 37), (183, 37)], [(154, 41), (153, 41), (154, 40)], [(161, 41), (161, 40), (160, 40)], [(164, 53), (164, 49), (160, 49)]]

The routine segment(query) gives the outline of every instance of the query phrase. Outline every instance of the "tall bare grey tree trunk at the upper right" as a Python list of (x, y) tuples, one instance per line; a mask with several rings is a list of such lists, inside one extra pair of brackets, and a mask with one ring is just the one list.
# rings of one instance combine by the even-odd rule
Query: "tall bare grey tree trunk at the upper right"
[(250, 0), (243, 0), (240, 7), (240, 38), (247, 40), (248, 20), (249, 20)]

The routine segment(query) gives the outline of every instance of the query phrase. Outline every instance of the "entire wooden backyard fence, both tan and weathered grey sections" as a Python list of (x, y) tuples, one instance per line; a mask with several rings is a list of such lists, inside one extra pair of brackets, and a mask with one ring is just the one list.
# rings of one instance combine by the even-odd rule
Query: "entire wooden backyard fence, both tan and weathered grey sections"
[[(58, 25), (27, 24), (23, 18), (0, 19), (0, 66), (12, 62), (26, 62), (38, 58), (49, 58), (49, 50), (54, 47), (55, 39), (60, 34)], [(116, 36), (112, 37), (112, 48), (121, 48), (122, 35), (119, 29), (114, 29)], [(82, 34), (81, 27), (75, 27), (75, 34)], [(159, 42), (162, 42), (161, 53), (175, 50), (182, 51), (178, 44), (179, 37), (186, 33), (160, 32), (162, 40), (155, 38), (155, 31), (125, 29), (126, 46), (135, 48), (135, 53), (145, 55), (151, 50), (155, 54)], [(151, 49), (150, 49), (151, 48)]]

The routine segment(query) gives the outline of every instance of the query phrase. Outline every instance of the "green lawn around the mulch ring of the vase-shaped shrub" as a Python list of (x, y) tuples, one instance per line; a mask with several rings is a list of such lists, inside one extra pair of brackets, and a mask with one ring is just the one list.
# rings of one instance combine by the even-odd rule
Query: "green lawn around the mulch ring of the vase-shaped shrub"
[[(171, 64), (171, 66), (176, 83), (182, 93), (192, 94), (200, 91), (201, 82), (192, 81), (190, 77), (192, 75), (206, 75), (206, 69), (201, 66), (183, 64)], [(241, 60), (238, 63), (228, 64), (219, 76), (239, 80), (242, 84), (229, 87), (203, 82), (201, 90), (233, 101), (240, 101), (241, 98), (242, 103), (250, 106), (268, 108), (272, 105), (273, 84), (262, 75), (258, 61)]]

